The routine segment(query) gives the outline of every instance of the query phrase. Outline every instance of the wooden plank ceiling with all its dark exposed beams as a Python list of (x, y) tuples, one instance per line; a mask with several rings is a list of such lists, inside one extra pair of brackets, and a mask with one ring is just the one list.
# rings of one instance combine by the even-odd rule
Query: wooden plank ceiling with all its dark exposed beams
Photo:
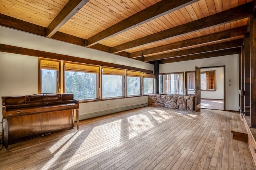
[(252, 0), (1, 0), (0, 25), (171, 63), (239, 53), (252, 7)]

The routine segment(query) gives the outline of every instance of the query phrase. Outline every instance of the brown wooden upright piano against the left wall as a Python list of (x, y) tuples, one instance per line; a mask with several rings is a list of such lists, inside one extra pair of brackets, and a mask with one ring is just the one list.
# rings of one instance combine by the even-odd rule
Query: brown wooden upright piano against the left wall
[(78, 100), (74, 94), (33, 94), (2, 97), (2, 138), (8, 144), (49, 135), (74, 127), (79, 131)]

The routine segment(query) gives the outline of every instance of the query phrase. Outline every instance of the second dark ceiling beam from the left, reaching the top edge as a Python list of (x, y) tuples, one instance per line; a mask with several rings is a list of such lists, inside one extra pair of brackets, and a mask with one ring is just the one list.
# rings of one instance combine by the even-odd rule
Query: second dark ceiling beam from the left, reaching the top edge
[(160, 2), (149, 6), (148, 8), (104, 29), (103, 31), (97, 33), (96, 35), (87, 39), (86, 47), (90, 47), (100, 41), (104, 41), (114, 35), (120, 34), (128, 29), (132, 29), (138, 25), (146, 23), (150, 20), (154, 20), (160, 16), (168, 14), (179, 8), (197, 2), (198, 0), (161, 0)]

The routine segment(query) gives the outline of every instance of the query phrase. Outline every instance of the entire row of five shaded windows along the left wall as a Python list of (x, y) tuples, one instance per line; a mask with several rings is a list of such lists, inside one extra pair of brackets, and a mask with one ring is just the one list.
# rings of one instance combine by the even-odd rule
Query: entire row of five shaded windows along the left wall
[(39, 93), (72, 93), (74, 99), (88, 101), (154, 93), (154, 74), (71, 61), (38, 61)]

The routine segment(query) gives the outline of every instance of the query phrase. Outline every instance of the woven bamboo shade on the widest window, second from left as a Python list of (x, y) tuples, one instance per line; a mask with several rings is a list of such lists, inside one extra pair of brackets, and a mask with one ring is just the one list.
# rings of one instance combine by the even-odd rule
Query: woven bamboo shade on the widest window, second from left
[(79, 72), (88, 72), (88, 73), (99, 74), (100, 73), (100, 66), (65, 63), (65, 71), (79, 71)]

